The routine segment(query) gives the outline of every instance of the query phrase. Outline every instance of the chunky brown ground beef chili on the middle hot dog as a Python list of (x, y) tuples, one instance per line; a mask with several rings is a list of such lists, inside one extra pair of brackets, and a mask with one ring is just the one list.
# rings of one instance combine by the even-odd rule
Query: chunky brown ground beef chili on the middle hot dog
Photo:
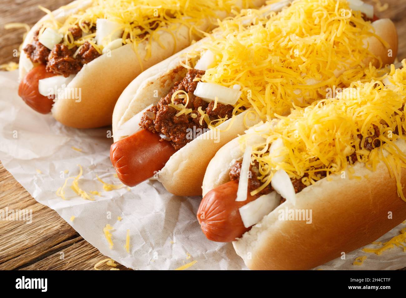
[[(197, 111), (199, 107), (206, 112), (210, 120), (225, 118), (226, 116), (231, 118), (234, 109), (232, 105), (217, 103), (216, 109), (213, 109), (214, 102), (207, 103), (200, 97), (193, 95), (197, 87), (197, 81), (193, 80), (196, 77), (201, 77), (204, 73), (204, 71), (190, 69), (184, 79), (175, 82), (171, 91), (160, 99), (158, 105), (151, 107), (143, 114), (140, 127), (158, 133), (162, 139), (170, 141), (172, 146), (178, 150), (192, 141), (193, 137), (190, 137), (191, 131), (200, 133), (201, 131), (203, 132), (203, 129), (207, 129), (207, 124), (204, 120), (202, 124), (199, 123), (201, 117)], [(187, 108), (192, 109), (191, 113), (175, 116), (179, 111), (169, 106), (172, 94), (178, 90), (188, 93), (189, 102)], [(175, 99), (174, 103), (185, 105), (186, 99)], [(194, 135), (194, 137), (196, 136)]]

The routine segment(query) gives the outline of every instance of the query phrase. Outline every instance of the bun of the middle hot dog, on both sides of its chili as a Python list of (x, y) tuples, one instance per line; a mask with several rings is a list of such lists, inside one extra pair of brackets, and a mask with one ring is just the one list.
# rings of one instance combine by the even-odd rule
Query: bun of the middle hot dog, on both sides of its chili
[[(173, 82), (184, 77), (187, 69), (181, 66), (181, 63), (185, 62), (183, 54), (191, 49), (198, 49), (203, 42), (205, 39), (152, 66), (127, 86), (113, 112), (114, 142), (121, 139), (114, 136), (119, 125), (151, 103), (158, 103), (159, 99), (169, 92)], [(150, 77), (146, 79), (148, 76)], [(158, 97), (154, 97), (155, 90), (158, 91)], [(206, 167), (217, 150), (238, 134), (244, 133), (247, 126), (259, 122), (259, 117), (250, 115), (244, 123), (247, 112), (220, 124), (217, 127), (219, 132), (216, 139), (210, 138), (210, 132), (206, 132), (178, 150), (161, 169), (158, 180), (174, 195), (201, 195)], [(227, 129), (230, 122), (232, 125)]]

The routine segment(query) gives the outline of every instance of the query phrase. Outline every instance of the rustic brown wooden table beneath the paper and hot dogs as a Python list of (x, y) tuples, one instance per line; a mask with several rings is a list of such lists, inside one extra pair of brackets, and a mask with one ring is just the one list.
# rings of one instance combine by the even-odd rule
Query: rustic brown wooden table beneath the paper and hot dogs
[[(30, 26), (43, 15), (41, 4), (50, 10), (69, 0), (2, 0), (0, 4), (0, 64), (18, 62), (13, 50), (22, 43), (23, 29), (5, 30), (4, 24), (28, 23)], [(369, 1), (373, 2), (373, 1)], [(389, 9), (377, 12), (391, 18), (398, 30), (399, 59), (406, 58), (406, 0), (382, 0)], [(106, 258), (67, 224), (58, 214), (34, 198), (4, 169), (0, 163), (0, 209), (32, 209), (33, 221), (0, 221), (0, 269), (65, 269), (88, 270)], [(107, 268), (107, 266), (100, 266)], [(126, 269), (119, 265), (117, 268)]]

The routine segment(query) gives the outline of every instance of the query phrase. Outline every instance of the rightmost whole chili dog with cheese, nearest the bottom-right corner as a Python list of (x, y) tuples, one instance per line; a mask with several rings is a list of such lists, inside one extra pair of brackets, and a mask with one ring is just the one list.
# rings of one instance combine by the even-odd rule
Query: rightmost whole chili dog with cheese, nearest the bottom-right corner
[[(306, 270), (404, 221), (404, 66), (222, 147), (207, 167), (197, 212), (207, 238), (233, 241), (251, 269)], [(287, 210), (312, 216), (287, 219)]]

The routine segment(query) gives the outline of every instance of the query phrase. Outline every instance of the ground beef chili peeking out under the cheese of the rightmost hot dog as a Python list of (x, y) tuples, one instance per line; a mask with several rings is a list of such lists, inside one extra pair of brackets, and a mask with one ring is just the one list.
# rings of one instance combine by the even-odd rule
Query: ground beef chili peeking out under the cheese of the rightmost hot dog
[[(380, 139), (378, 139), (378, 137), (380, 135), (379, 128), (376, 125), (373, 125), (373, 128), (374, 128), (374, 135), (367, 137), (367, 139), (365, 140), (365, 143), (364, 143), (364, 148), (369, 151), (381, 146), (381, 141), (380, 141)], [(396, 126), (396, 129), (394, 130), (394, 133), (397, 134), (397, 126)], [(361, 142), (362, 142), (363, 137), (361, 134), (357, 135), (357, 137), (359, 139), (359, 144), (361, 147)], [(355, 146), (353, 146), (353, 147), (355, 148)], [(350, 164), (355, 163), (357, 160), (358, 159), (356, 157), (355, 152), (347, 157), (347, 161)], [(241, 164), (242, 164), (241, 161), (237, 161), (231, 166), (230, 173), (229, 173), (231, 180), (240, 179)], [(257, 161), (254, 161), (254, 165), (252, 165), (252, 164), (250, 165), (251, 177), (248, 178), (248, 191), (250, 191), (250, 192), (254, 191), (255, 189), (257, 189), (258, 187), (261, 186), (261, 182), (260, 182), (260, 180), (258, 180), (258, 174), (259, 174), (258, 165), (259, 164)], [(321, 167), (315, 168), (315, 170), (317, 170), (317, 169), (321, 169)], [(319, 171), (319, 172), (317, 172), (317, 174), (320, 178), (324, 178), (327, 176), (326, 171)], [(303, 177), (307, 177), (307, 176), (309, 176), (309, 175), (306, 173), (306, 174), (304, 174)], [(302, 191), (305, 187), (307, 187), (307, 185), (302, 182), (303, 177), (291, 178), (293, 187), (295, 189), (295, 193), (298, 193), (298, 192)], [(258, 193), (258, 195), (266, 195), (266, 194), (272, 192), (273, 190), (274, 189), (272, 188), (272, 186), (270, 184), (268, 184), (262, 191), (260, 191)], [(285, 202), (285, 199), (281, 198), (280, 203), (282, 204), (283, 202)]]

